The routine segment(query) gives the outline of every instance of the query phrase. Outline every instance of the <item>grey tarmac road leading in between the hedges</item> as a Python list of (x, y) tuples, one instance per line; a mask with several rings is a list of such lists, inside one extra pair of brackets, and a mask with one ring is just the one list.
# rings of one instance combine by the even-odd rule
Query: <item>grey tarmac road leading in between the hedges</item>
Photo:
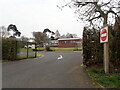
[[(44, 57), (3, 64), (3, 88), (95, 88), (81, 52), (40, 52)], [(62, 60), (57, 60), (62, 55)]]

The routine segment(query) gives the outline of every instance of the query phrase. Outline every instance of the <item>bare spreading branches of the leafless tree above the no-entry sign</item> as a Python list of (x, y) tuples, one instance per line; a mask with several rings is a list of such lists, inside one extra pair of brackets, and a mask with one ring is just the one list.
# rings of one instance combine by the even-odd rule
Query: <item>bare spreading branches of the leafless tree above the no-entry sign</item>
[(89, 25), (100, 28), (115, 21), (115, 17), (118, 17), (120, 13), (117, 10), (120, 8), (119, 3), (119, 0), (71, 0), (62, 8), (65, 6), (74, 7), (78, 20), (87, 21)]

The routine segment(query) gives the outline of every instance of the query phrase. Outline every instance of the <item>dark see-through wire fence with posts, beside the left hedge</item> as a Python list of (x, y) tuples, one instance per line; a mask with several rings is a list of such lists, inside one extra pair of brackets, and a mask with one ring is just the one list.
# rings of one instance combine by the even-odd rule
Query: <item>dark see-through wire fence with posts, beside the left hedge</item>
[(25, 58), (35, 58), (37, 57), (36, 43), (25, 42), (25, 41), (16, 41), (17, 47), (17, 57), (16, 59), (25, 59)]

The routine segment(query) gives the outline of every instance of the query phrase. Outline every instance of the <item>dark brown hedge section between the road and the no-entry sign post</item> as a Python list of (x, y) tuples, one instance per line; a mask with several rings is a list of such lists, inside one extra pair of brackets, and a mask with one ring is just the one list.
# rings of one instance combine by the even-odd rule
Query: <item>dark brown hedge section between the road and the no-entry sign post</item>
[(99, 31), (86, 29), (83, 31), (83, 64), (90, 66), (103, 63), (103, 44), (100, 43)]

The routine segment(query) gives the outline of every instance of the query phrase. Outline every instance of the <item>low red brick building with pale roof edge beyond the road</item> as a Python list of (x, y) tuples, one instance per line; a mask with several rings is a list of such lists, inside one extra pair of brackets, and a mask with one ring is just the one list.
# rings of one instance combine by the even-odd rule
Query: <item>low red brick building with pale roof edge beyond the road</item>
[(82, 40), (80, 38), (63, 38), (58, 39), (59, 48), (81, 47)]

